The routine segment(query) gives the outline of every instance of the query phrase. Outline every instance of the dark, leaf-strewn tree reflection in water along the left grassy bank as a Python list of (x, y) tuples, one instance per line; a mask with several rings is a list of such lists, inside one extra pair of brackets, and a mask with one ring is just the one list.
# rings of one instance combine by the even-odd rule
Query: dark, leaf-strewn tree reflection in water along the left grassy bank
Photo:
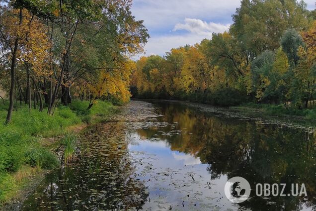
[[(41, 196), (26, 210), (115, 210), (140, 209), (148, 192), (140, 181), (133, 178), (133, 166), (129, 161), (127, 143), (122, 124), (105, 123), (91, 128), (85, 134), (86, 141), (81, 149), (81, 159), (73, 166), (50, 174), (38, 193)], [(43, 190), (52, 190), (43, 195)], [(55, 186), (54, 186), (55, 187)], [(46, 192), (48, 193), (48, 192)], [(45, 204), (41, 204), (45, 202)], [(42, 207), (40, 207), (42, 206)]]

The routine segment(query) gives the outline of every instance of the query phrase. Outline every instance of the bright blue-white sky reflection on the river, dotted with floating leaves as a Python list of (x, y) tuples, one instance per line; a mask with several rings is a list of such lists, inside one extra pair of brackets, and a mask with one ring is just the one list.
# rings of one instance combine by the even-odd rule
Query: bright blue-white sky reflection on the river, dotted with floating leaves
[(144, 210), (237, 210), (224, 194), (226, 175), (211, 180), (208, 164), (199, 157), (172, 151), (166, 140), (148, 140), (128, 133), (136, 178), (145, 182), (150, 196)]

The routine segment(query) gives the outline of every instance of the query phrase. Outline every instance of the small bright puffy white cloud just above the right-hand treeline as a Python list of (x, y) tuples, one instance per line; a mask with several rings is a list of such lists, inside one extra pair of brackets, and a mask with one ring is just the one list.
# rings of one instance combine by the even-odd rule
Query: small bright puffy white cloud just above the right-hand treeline
[(198, 35), (212, 36), (212, 33), (228, 31), (229, 28), (230, 24), (223, 25), (214, 22), (207, 23), (206, 21), (202, 21), (200, 19), (185, 18), (184, 23), (177, 23), (174, 26), (173, 31), (186, 30)]

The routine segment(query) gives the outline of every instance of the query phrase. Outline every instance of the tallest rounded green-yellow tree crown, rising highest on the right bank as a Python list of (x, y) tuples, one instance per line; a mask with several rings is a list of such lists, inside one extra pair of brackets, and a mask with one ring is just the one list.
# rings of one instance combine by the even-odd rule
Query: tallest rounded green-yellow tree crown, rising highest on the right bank
[(286, 29), (307, 29), (310, 18), (306, 7), (304, 1), (297, 0), (242, 0), (230, 33), (254, 58), (264, 50), (278, 49)]

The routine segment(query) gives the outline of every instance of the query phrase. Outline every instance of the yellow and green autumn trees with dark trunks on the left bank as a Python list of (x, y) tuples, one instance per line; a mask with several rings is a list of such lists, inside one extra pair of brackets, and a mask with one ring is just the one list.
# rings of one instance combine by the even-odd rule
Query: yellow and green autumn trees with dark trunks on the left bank
[(0, 87), (16, 104), (54, 113), (75, 96), (128, 101), (135, 63), (149, 34), (131, 0), (1, 0)]

